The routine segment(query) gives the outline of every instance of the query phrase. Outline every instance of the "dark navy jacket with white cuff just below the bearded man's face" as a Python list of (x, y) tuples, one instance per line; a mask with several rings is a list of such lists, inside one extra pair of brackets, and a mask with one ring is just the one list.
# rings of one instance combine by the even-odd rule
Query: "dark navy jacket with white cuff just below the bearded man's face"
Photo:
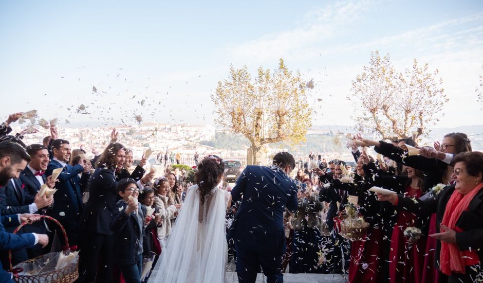
[[(11, 180), (13, 180), (15, 186), (12, 184)], [(11, 180), (8, 181), (7, 186), (0, 189), (0, 206), (2, 214), (30, 213), (28, 205), (33, 202), (34, 197), (25, 194), (20, 179)]]

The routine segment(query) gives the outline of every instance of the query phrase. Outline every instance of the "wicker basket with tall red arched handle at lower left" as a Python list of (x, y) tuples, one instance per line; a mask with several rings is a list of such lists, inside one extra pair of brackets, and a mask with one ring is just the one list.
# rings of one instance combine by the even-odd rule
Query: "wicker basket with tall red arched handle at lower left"
[[(62, 227), (62, 225), (59, 223), (59, 221), (53, 219), (50, 216), (46, 216), (46, 215), (41, 215), (40, 217), (48, 219), (50, 221), (53, 221), (55, 224), (57, 224), (61, 228), (62, 234), (64, 235), (65, 242), (66, 243), (69, 242), (68, 238), (67, 238), (67, 233), (65, 232), (64, 227)], [(23, 226), (25, 226), (27, 223), (28, 222), (23, 222), (22, 224), (20, 224), (20, 226), (18, 226), (15, 229), (15, 231), (13, 231), (13, 234), (16, 234), (18, 232), (18, 230), (20, 228), (22, 228)], [(66, 247), (64, 247), (64, 252), (70, 252), (70, 248), (69, 248), (68, 245)], [(44, 256), (45, 255), (42, 255), (42, 256), (39, 256), (39, 257), (36, 257), (36, 258), (33, 258), (33, 259), (29, 259), (29, 260), (26, 260), (22, 263), (34, 262), (36, 259), (42, 258)], [(12, 272), (13, 279), (16, 282), (22, 282), (22, 283), (27, 283), (27, 282), (33, 282), (33, 283), (41, 283), (41, 282), (42, 283), (45, 283), (45, 282), (70, 283), (70, 282), (77, 280), (77, 278), (79, 278), (79, 260), (77, 260), (77, 262), (75, 262), (75, 263), (74, 262), (70, 263), (67, 266), (65, 266), (65, 267), (63, 267), (59, 270), (55, 270), (55, 271), (51, 271), (51, 272), (45, 272), (45, 273), (38, 274), (38, 275), (18, 275), (18, 273), (22, 272), (23, 270), (21, 268), (15, 268), (14, 269), (12, 267), (12, 251), (11, 250), (8, 252), (8, 260), (10, 261), (10, 271)]]

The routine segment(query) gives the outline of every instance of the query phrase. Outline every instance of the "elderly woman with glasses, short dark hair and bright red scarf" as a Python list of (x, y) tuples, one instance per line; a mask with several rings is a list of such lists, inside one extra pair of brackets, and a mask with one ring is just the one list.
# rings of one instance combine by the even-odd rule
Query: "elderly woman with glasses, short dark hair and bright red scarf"
[[(432, 196), (414, 202), (400, 194), (378, 194), (398, 210), (416, 214), (436, 213), (438, 239), (436, 256), (439, 270), (448, 282), (474, 282), (481, 275), (483, 258), (483, 153), (457, 154), (452, 161), (455, 183)], [(479, 277), (478, 277), (479, 278)], [(442, 278), (441, 278), (442, 279)]]

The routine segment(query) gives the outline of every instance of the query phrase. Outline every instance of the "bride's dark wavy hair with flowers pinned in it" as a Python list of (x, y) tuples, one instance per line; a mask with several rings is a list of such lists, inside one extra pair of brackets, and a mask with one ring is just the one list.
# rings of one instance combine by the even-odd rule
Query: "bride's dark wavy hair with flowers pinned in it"
[(196, 169), (195, 183), (198, 185), (201, 204), (203, 205), (205, 204), (205, 197), (220, 181), (219, 176), (225, 172), (225, 164), (218, 156), (211, 155), (203, 158)]

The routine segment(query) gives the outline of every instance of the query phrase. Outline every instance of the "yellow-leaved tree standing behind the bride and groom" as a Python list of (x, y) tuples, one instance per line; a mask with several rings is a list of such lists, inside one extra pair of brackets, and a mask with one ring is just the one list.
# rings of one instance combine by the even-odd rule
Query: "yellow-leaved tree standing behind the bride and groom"
[(292, 74), (283, 59), (272, 74), (260, 66), (254, 81), (247, 66), (235, 69), (231, 65), (229, 78), (219, 81), (211, 96), (216, 122), (246, 136), (255, 157), (253, 164), (261, 164), (256, 157), (264, 145), (305, 141), (312, 126), (308, 89), (313, 89), (313, 82), (304, 82), (300, 72)]

